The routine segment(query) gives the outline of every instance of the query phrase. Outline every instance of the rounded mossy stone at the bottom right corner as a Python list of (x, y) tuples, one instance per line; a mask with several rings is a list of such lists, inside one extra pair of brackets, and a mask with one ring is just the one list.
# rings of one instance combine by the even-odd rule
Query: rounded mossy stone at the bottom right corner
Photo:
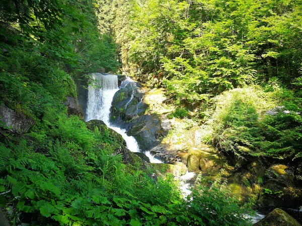
[(301, 226), (291, 215), (276, 208), (254, 226)]

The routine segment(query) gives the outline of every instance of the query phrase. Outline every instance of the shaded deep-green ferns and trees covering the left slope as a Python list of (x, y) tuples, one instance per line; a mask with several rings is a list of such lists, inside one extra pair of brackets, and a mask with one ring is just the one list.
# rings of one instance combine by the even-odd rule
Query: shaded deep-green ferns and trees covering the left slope
[(184, 199), (172, 175), (125, 165), (119, 136), (67, 116), (72, 78), (118, 66), (95, 2), (2, 1), (0, 10), (0, 105), (34, 122), (22, 131), (0, 119), (0, 207), (12, 225), (247, 225), (248, 209), (219, 181)]

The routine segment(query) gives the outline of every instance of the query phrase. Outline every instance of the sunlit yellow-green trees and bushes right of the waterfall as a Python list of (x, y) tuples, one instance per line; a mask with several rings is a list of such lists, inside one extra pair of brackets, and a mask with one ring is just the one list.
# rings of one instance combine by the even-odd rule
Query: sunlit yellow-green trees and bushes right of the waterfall
[(301, 157), (300, 1), (118, 2), (123, 68), (166, 88), (170, 117), (197, 118), (205, 143), (241, 158)]

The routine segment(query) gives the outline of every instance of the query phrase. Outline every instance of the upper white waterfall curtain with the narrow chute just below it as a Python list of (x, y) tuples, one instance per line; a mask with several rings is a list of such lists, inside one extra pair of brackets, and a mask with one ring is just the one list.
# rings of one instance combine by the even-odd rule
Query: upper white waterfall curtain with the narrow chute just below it
[[(108, 128), (119, 133), (127, 143), (127, 148), (132, 152), (139, 152), (138, 144), (134, 137), (129, 137), (126, 134), (125, 129), (114, 127), (109, 122), (111, 102), (114, 94), (119, 90), (117, 75), (103, 75), (100, 73), (93, 74), (95, 84), (88, 88), (88, 103), (86, 111), (86, 119), (90, 120), (102, 120)], [(136, 84), (129, 77), (123, 82), (122, 87), (135, 86)], [(134, 93), (133, 93), (134, 94)], [(161, 163), (160, 160), (155, 159), (150, 153), (146, 153), (150, 159), (150, 162)]]

